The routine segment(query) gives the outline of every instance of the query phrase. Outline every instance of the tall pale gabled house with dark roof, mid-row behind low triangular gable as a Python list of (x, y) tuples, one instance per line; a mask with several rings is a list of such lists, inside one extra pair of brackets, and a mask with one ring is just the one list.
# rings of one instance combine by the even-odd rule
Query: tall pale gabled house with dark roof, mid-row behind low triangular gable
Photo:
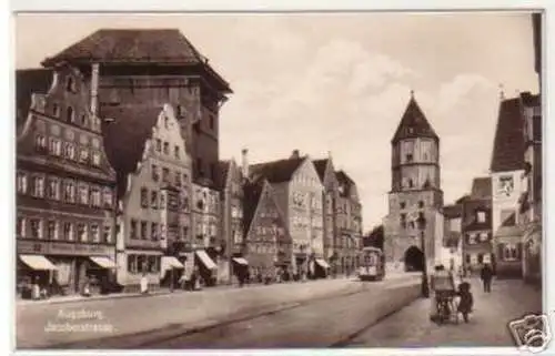
[(314, 264), (310, 262), (324, 257), (323, 185), (312, 160), (295, 150), (286, 160), (251, 165), (249, 174), (251, 180), (265, 177), (274, 190), (292, 238), (293, 274), (311, 274)]

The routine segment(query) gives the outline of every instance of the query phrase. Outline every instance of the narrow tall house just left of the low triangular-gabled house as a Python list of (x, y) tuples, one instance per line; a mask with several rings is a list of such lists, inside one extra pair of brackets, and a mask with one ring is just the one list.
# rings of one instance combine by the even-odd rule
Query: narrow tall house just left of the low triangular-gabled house
[[(246, 154), (246, 152), (244, 153)], [(234, 160), (220, 161), (221, 240), (225, 258), (220, 258), (219, 281), (230, 283), (232, 257), (239, 257), (243, 243), (243, 174)]]

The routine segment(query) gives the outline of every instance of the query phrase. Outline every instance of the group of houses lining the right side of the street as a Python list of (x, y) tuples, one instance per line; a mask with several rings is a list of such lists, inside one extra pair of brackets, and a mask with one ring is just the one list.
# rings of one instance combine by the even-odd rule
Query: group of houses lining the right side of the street
[[(541, 14), (533, 14), (541, 85)], [(542, 282), (541, 94), (502, 95), (490, 175), (444, 207), (450, 256), (471, 273), (491, 264), (500, 277)]]

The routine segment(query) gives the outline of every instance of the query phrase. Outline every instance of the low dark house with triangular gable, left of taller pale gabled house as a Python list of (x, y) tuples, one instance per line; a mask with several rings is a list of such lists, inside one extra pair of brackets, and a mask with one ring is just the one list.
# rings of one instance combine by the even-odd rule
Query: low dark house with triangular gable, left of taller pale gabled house
[(234, 257), (236, 267), (249, 265), (251, 281), (262, 282), (265, 276), (275, 276), (276, 268), (291, 266), (292, 240), (286, 230), (271, 184), (264, 177), (246, 182), (244, 220), (244, 258)]

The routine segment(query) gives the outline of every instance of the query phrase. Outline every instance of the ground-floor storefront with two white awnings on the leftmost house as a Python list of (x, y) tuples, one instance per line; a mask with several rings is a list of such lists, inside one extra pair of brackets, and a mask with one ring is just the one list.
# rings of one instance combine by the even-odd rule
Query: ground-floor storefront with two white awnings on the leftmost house
[(69, 242), (18, 241), (18, 284), (38, 281), (50, 294), (75, 294), (90, 283), (108, 293), (114, 282), (114, 247)]

